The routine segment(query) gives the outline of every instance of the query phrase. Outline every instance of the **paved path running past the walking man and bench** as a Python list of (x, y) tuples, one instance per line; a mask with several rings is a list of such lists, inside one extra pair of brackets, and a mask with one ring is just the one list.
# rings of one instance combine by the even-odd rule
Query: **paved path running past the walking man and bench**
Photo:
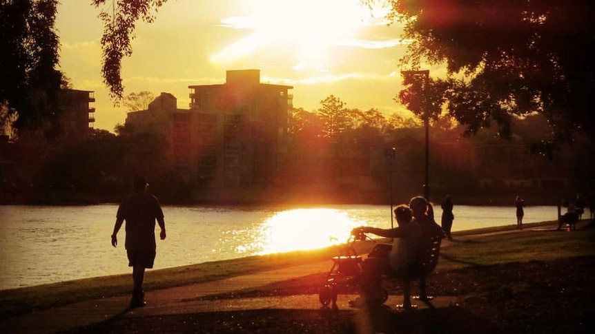
[[(246, 309), (320, 309), (322, 305), (318, 301), (318, 295), (233, 298), (215, 301), (200, 300), (200, 297), (262, 286), (313, 273), (326, 273), (329, 271), (330, 265), (330, 262), (324, 261), (299, 267), (243, 275), (215, 282), (147, 291), (145, 296), (147, 305), (133, 310), (128, 310), (129, 296), (77, 302), (75, 304), (68, 304), (0, 320), (0, 331), (2, 333), (57, 333), (79, 326), (97, 324), (112, 317), (149, 317)], [(348, 301), (353, 298), (355, 298), (354, 295), (339, 295), (338, 307), (340, 309), (349, 309)], [(400, 302), (402, 302), (402, 296), (391, 295), (386, 304), (394, 307)], [(432, 301), (432, 304), (436, 307), (448, 306), (453, 303), (456, 303), (456, 298), (438, 297)], [(420, 308), (427, 307), (421, 302), (419, 304)]]

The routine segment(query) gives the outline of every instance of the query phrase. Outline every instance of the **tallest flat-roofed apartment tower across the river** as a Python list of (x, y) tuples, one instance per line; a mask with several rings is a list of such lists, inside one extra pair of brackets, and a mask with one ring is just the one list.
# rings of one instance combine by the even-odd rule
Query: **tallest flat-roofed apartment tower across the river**
[(291, 86), (260, 83), (260, 70), (227, 71), (222, 85), (193, 85), (199, 116), (199, 177), (219, 187), (271, 182), (286, 154)]

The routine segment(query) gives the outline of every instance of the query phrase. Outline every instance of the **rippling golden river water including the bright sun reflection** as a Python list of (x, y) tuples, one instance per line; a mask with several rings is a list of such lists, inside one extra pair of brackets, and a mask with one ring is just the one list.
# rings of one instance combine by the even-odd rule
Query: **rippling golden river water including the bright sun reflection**
[[(116, 211), (117, 205), (0, 206), (0, 290), (130, 273), (124, 228), (117, 249), (110, 245)], [(512, 206), (455, 206), (453, 212), (453, 231), (516, 225)], [(557, 212), (557, 207), (527, 207), (524, 222), (556, 220)], [(164, 207), (164, 214), (168, 237), (157, 240), (155, 269), (322, 248), (344, 242), (356, 226), (391, 227), (388, 205), (188, 206)]]

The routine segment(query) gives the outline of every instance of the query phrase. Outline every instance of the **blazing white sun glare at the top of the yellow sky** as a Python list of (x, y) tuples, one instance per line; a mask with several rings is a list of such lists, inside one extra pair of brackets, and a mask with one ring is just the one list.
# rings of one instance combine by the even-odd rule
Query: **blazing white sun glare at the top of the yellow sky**
[(251, 34), (213, 54), (211, 61), (231, 63), (271, 45), (295, 48), (300, 62), (325, 61), (328, 49), (355, 38), (370, 16), (360, 0), (253, 1), (245, 17), (222, 21)]

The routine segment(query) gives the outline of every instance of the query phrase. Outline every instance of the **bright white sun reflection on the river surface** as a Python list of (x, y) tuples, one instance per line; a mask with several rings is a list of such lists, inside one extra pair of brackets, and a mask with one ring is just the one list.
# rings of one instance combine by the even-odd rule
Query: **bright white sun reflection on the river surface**
[(291, 209), (265, 220), (257, 233), (254, 249), (261, 255), (319, 249), (347, 241), (353, 227), (364, 222), (338, 209)]

